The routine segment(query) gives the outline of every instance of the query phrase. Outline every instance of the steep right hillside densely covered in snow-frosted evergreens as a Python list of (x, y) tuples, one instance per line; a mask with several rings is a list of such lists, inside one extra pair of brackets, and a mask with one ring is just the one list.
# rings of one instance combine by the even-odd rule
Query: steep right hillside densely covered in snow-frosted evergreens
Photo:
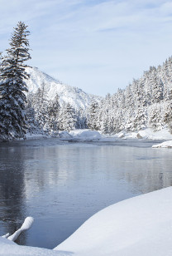
[(150, 66), (125, 90), (93, 103), (88, 116), (88, 128), (108, 134), (165, 127), (172, 132), (172, 57), (161, 66)]

